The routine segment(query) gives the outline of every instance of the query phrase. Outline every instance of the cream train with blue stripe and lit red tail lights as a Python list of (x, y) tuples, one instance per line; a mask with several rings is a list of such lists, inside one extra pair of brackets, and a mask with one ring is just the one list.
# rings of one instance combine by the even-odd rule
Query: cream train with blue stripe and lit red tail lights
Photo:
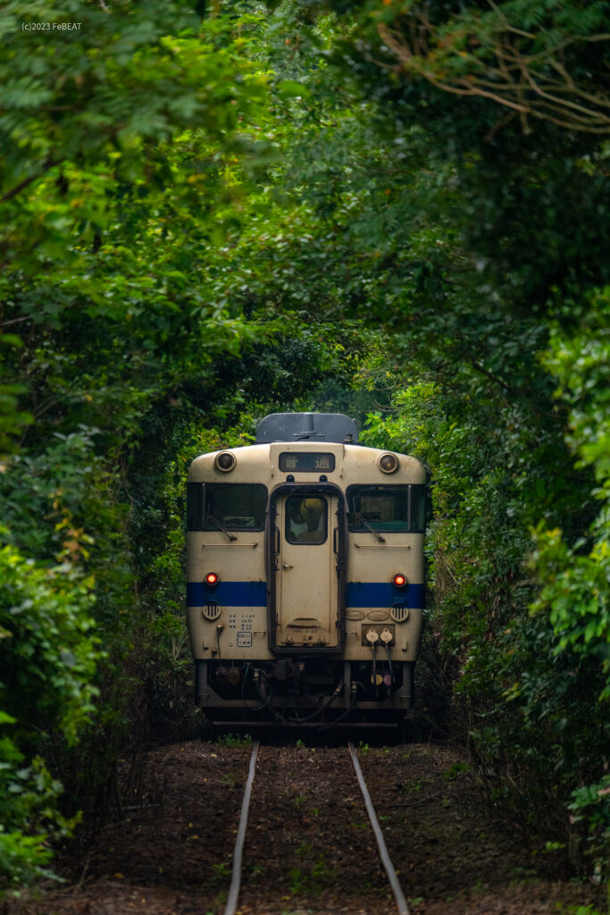
[(187, 479), (187, 626), (210, 722), (404, 720), (424, 604), (426, 469), (348, 416), (265, 416)]

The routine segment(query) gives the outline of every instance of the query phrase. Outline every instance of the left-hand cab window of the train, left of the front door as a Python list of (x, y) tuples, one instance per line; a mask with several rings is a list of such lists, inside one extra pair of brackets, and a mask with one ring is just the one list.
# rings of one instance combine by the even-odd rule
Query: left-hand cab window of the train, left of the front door
[(188, 483), (188, 531), (262, 531), (266, 509), (259, 483)]

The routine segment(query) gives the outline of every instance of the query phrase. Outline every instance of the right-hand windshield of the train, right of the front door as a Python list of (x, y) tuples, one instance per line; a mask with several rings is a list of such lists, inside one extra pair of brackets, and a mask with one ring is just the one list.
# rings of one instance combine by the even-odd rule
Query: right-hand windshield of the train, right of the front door
[(348, 523), (350, 531), (423, 532), (425, 486), (350, 486)]

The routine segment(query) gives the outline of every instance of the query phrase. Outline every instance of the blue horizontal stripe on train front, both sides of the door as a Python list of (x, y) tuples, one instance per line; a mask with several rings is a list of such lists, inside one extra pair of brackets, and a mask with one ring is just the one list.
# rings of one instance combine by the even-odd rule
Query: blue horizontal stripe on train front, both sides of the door
[[(209, 600), (223, 607), (266, 607), (267, 586), (263, 581), (221, 581), (216, 587), (188, 582), (188, 607), (201, 607)], [(409, 608), (423, 607), (423, 585), (396, 588), (389, 582), (348, 582), (347, 607), (391, 607), (397, 601)]]

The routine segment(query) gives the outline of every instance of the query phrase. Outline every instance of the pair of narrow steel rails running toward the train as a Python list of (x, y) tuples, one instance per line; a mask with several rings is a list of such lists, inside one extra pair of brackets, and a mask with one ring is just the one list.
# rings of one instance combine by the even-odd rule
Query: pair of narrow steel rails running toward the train
[[(243, 850), (244, 844), (246, 841), (246, 835), (248, 831), (248, 816), (250, 812), (250, 801), (251, 801), (251, 791), (254, 784), (255, 774), (256, 774), (256, 760), (258, 758), (260, 742), (256, 740), (252, 745), (250, 767), (248, 772), (248, 779), (246, 781), (246, 786), (243, 792), (243, 800), (241, 802), (241, 816), (239, 828), (237, 831), (237, 838), (235, 840), (235, 847), (233, 850), (233, 863), (230, 879), (230, 888), (229, 895), (227, 897), (227, 904), (224, 910), (224, 915), (235, 915), (237, 911), (240, 892), (241, 892), (241, 877), (242, 877), (242, 863), (243, 863)], [(369, 816), (369, 823), (372, 828), (373, 834), (375, 835), (375, 841), (377, 843), (377, 849), (379, 852), (381, 863), (385, 869), (386, 875), (390, 882), (391, 891), (393, 893), (394, 899), (396, 901), (396, 910), (398, 915), (410, 915), (404, 893), (402, 892), (399, 879), (396, 875), (396, 870), (391, 863), (391, 857), (388, 853), (388, 849), (383, 838), (383, 833), (381, 831), (380, 823), (375, 813), (375, 808), (370, 799), (369, 790), (367, 788), (364, 775), (360, 769), (358, 754), (354, 748), (353, 743), (349, 742), (347, 745), (347, 750), (349, 757), (351, 759), (354, 771), (356, 773), (356, 778), (359, 783), (359, 789), (362, 794), (362, 799)]]

